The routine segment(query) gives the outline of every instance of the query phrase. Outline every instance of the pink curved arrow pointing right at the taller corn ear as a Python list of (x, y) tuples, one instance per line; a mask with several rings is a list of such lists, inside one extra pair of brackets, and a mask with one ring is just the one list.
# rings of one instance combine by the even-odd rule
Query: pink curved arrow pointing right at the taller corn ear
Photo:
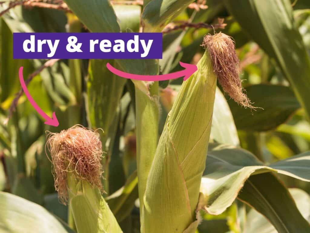
[(135, 74), (129, 74), (120, 70), (117, 70), (113, 66), (110, 65), (110, 63), (107, 63), (107, 68), (112, 73), (121, 76), (126, 79), (135, 79), (135, 80), (141, 80), (141, 81), (162, 81), (162, 80), (170, 80), (170, 79), (176, 79), (179, 77), (184, 76), (184, 81), (187, 80), (193, 73), (197, 71), (197, 66), (192, 64), (187, 64), (180, 62), (180, 65), (185, 68), (185, 70), (177, 71), (171, 74), (166, 75), (135, 75)]

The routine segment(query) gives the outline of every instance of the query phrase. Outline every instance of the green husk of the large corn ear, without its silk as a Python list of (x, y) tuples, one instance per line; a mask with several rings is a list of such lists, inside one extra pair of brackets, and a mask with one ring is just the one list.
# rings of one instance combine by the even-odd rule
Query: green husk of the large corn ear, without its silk
[[(208, 51), (181, 87), (148, 175), (141, 232), (194, 232), (205, 168), (216, 76)], [(156, 216), (156, 217), (154, 217)]]

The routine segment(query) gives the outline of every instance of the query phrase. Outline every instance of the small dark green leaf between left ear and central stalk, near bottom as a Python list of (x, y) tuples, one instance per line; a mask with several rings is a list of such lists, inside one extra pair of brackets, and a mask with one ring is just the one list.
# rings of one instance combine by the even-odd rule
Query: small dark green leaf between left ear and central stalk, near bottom
[(118, 222), (122, 222), (127, 217), (135, 205), (138, 198), (138, 177), (137, 172), (131, 174), (126, 184), (106, 201)]

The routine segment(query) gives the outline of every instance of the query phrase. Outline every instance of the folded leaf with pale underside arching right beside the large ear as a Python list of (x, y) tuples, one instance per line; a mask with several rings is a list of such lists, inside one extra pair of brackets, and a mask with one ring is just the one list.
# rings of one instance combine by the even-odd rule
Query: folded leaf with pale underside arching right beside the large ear
[(306, 171), (309, 171), (308, 167), (309, 152), (284, 162), (264, 166), (252, 153), (244, 149), (210, 144), (200, 190), (207, 200), (206, 210), (216, 215), (224, 212), (251, 175), (274, 171), (310, 181), (310, 172)]

